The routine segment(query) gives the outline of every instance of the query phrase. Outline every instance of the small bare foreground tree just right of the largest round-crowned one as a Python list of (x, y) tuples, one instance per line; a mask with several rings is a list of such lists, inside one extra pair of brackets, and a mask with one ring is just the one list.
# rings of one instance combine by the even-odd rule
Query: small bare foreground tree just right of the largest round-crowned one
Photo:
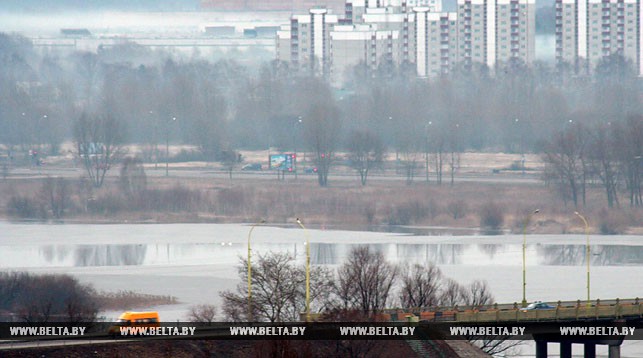
[(402, 307), (437, 306), (441, 278), (440, 269), (433, 263), (405, 267), (401, 274)]

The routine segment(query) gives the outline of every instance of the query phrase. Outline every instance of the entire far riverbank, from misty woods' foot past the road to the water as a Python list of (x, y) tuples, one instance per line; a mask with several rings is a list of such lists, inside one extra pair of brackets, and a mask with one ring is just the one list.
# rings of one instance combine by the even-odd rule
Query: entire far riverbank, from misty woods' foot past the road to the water
[[(67, 148), (69, 149), (69, 148)], [(194, 148), (172, 146), (179, 156)], [(129, 148), (138, 153), (140, 148)], [(590, 233), (641, 234), (643, 208), (608, 208), (598, 184), (587, 188), (586, 203), (574, 208), (555, 184), (540, 178), (538, 155), (462, 153), (454, 181), (445, 172), (438, 183), (422, 161), (412, 181), (395, 160), (371, 171), (366, 186), (338, 153), (328, 187), (316, 174), (287, 173), (279, 180), (268, 170), (228, 173), (220, 163), (145, 163), (136, 170), (114, 168), (100, 188), (83, 179), (85, 172), (71, 152), (48, 157), (40, 167), (11, 168), (0, 180), (0, 220), (51, 223), (254, 223), (307, 225), (356, 231), (417, 234)], [(269, 151), (244, 151), (245, 163), (262, 163)], [(300, 153), (302, 169), (311, 156)], [(421, 157), (420, 154), (418, 154)], [(175, 157), (173, 157), (175, 158)], [(176, 157), (178, 158), (178, 157)], [(187, 159), (187, 158), (184, 158)], [(522, 169), (525, 169), (523, 172)], [(121, 169), (121, 170), (119, 170)], [(265, 169), (265, 166), (264, 166)], [(445, 168), (446, 170), (446, 168)], [(534, 210), (525, 227), (525, 220)]]

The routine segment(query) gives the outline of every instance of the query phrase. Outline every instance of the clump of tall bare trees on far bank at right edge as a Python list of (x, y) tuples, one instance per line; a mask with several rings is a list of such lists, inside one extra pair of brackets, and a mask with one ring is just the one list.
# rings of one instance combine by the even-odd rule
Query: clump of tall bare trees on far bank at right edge
[[(544, 179), (567, 202), (584, 207), (590, 186), (600, 186), (610, 208), (623, 197), (633, 207), (643, 206), (643, 116), (624, 121), (569, 125), (546, 142)], [(620, 199), (619, 199), (620, 197)]]

